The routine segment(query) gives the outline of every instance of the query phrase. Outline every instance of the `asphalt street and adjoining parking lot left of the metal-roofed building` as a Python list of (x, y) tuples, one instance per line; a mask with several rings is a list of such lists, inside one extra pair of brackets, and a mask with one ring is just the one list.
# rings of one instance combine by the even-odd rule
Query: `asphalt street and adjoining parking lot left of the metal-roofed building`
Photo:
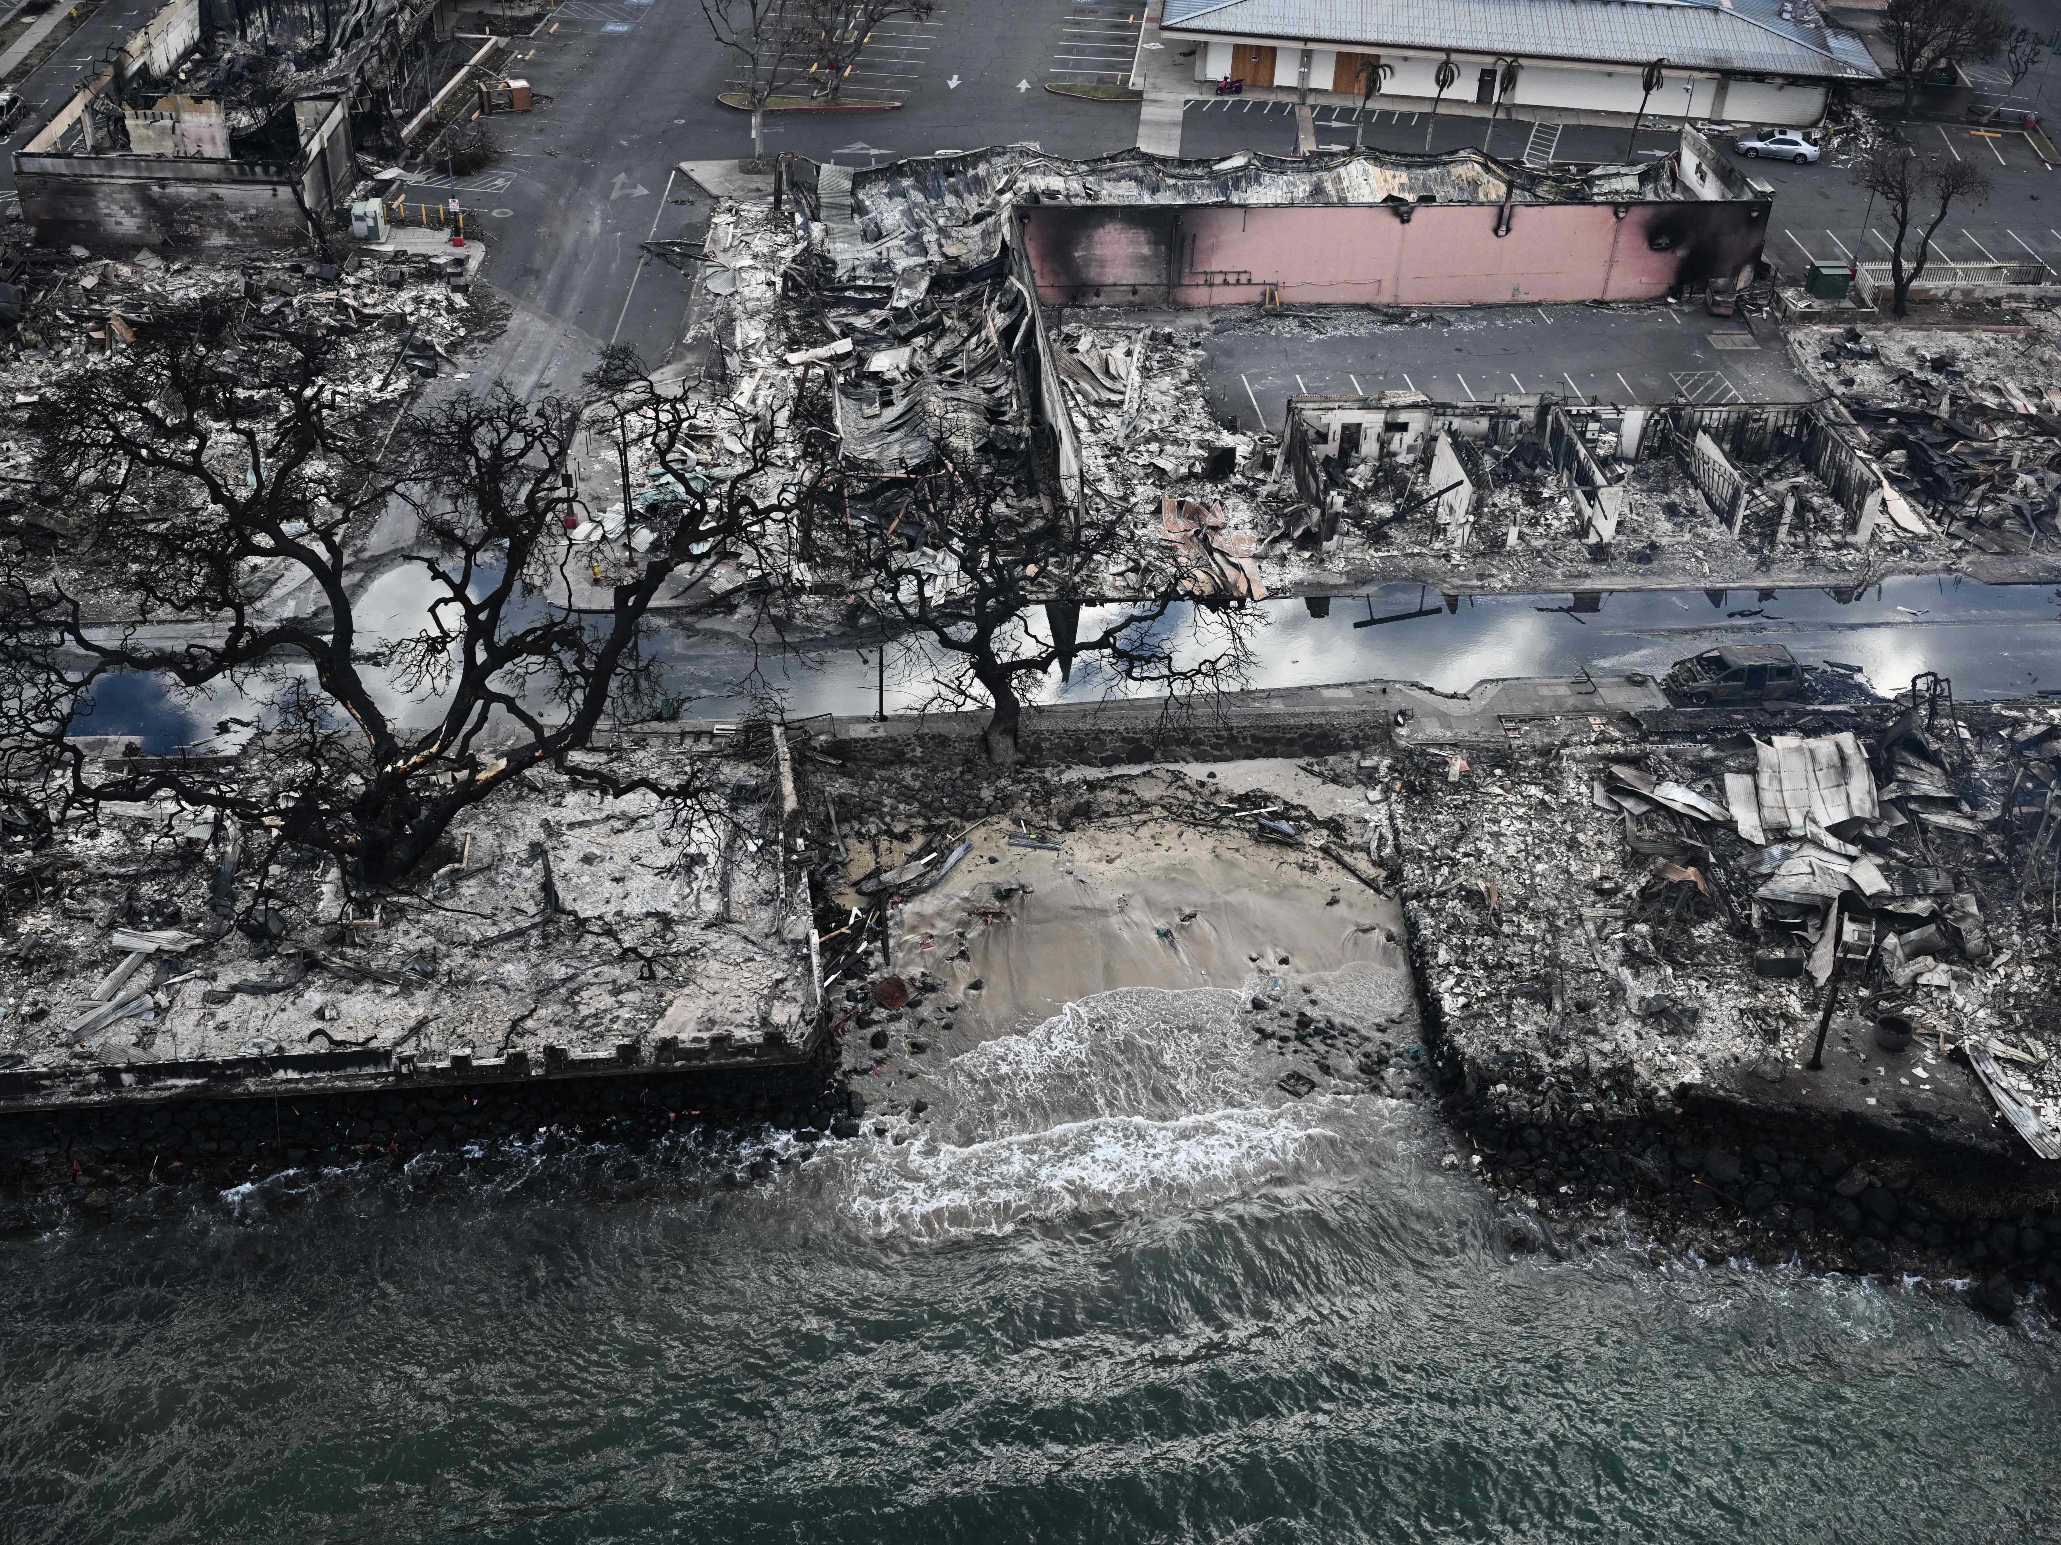
[[(1121, 0), (1039, 0), (1010, 27), (971, 6), (876, 29), (847, 97), (905, 103), (892, 111), (775, 113), (767, 148), (845, 165), (901, 154), (1037, 140), (1068, 154), (1129, 144), (1136, 109), (1057, 97), (1047, 80), (1121, 78), (1138, 10)], [(711, 41), (695, 0), (561, 0), (517, 49), (517, 66), (552, 101), (497, 119), (503, 159), (474, 177), (418, 177), (429, 198), (458, 196), (486, 216), (484, 276), (565, 328), (548, 360), (486, 373), (567, 389), (600, 344), (666, 363), (684, 328), (692, 280), (645, 255), (645, 241), (699, 237), (707, 196), (680, 161), (750, 152), (748, 115), (717, 93), (734, 60)]]

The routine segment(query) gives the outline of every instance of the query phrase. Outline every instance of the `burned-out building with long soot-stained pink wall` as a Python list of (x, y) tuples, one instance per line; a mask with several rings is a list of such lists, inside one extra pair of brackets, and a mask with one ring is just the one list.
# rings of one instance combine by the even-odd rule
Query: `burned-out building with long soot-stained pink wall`
[(802, 183), (841, 282), (962, 274), (1010, 247), (1045, 305), (1647, 301), (1752, 278), (1772, 200), (1690, 128), (1659, 161), (1591, 169), (1000, 146)]

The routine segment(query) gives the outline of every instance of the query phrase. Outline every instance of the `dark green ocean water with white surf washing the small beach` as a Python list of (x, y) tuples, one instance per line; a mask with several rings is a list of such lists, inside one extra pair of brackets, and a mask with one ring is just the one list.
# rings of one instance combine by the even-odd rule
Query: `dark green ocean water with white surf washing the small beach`
[(1232, 1005), (1088, 999), (806, 1160), (52, 1211), (0, 1242), (0, 1541), (2061, 1537), (2047, 1333), (1554, 1240)]

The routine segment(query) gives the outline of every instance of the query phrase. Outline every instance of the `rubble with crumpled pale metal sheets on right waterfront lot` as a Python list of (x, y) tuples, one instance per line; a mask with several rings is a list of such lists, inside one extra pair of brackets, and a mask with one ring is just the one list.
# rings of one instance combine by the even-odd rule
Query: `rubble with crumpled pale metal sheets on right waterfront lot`
[[(1921, 678), (1787, 717), (1795, 733), (1717, 709), (1457, 777), (1434, 750), (1408, 764), (1404, 900), (1467, 1094), (1521, 1125), (1704, 1090), (2009, 1158), (1981, 1069), (2020, 1110), (2018, 1154), (2061, 1156), (2061, 711), (1956, 707)], [(1878, 1044), (1890, 1016), (1908, 1053)]]

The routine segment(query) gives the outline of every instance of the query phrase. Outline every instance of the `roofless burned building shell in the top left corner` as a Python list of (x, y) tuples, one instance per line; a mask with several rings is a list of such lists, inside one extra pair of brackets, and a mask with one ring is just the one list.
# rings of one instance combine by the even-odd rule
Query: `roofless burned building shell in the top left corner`
[(45, 245), (305, 243), (410, 101), (435, 8), (173, 0), (14, 152), (23, 216)]

